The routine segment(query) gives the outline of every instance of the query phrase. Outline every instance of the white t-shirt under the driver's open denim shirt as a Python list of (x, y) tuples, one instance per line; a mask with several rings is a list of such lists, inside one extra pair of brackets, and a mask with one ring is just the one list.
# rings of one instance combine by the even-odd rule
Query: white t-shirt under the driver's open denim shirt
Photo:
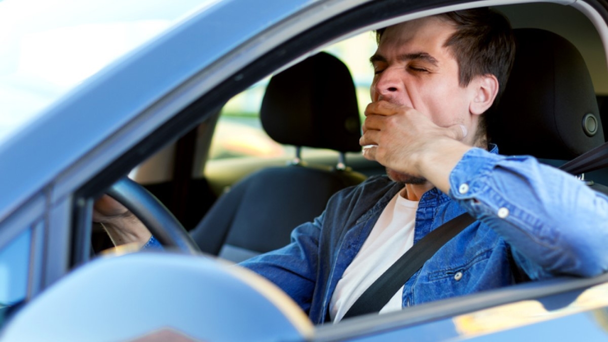
[[(412, 248), (417, 208), (418, 201), (407, 200), (401, 192), (384, 208), (370, 236), (338, 281), (330, 302), (333, 323), (339, 322), (364, 291)], [(402, 292), (403, 287), (380, 313), (401, 310)]]

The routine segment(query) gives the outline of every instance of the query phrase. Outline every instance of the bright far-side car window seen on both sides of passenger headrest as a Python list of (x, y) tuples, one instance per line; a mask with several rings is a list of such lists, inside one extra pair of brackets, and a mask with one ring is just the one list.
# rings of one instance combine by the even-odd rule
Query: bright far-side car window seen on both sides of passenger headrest
[[(369, 102), (373, 72), (369, 57), (376, 49), (375, 34), (365, 32), (323, 51), (340, 58), (350, 69), (362, 115)], [(260, 106), (270, 77), (233, 97), (224, 106), (210, 147), (209, 162), (232, 158), (282, 158), (294, 156), (294, 147), (280, 145), (264, 132)]]

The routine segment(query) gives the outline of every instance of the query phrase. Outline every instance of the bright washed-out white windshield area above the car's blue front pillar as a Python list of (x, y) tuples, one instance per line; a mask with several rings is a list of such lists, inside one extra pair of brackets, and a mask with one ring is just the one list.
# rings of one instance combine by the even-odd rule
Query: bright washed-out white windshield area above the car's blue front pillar
[(44, 108), (216, 0), (0, 0), (0, 144)]

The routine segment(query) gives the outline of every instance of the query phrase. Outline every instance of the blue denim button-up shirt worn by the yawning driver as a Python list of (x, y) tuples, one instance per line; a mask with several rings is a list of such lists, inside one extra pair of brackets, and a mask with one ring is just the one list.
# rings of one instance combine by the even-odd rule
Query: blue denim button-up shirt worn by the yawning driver
[[(402, 305), (466, 295), (558, 274), (594, 276), (608, 268), (608, 197), (528, 156), (474, 148), (450, 175), (449, 196), (426, 192), (414, 243), (468, 211), (477, 222), (446, 243), (404, 285)], [(291, 243), (241, 263), (268, 278), (323, 323), (336, 284), (382, 210), (403, 187), (375, 176), (335, 194)], [(456, 273), (460, 273), (455, 277)]]

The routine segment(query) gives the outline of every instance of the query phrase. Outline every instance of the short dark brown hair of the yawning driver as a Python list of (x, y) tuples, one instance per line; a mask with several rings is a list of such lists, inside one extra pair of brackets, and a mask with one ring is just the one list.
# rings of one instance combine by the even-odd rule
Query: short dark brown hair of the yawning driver
[[(456, 31), (444, 43), (458, 63), (460, 86), (467, 86), (475, 76), (492, 74), (499, 82), (494, 105), (505, 89), (515, 59), (515, 38), (508, 19), (487, 7), (441, 13), (438, 18), (454, 23)], [(376, 31), (376, 40), (385, 29)], [(485, 116), (485, 115), (484, 115)], [(479, 130), (485, 134), (482, 116)]]

